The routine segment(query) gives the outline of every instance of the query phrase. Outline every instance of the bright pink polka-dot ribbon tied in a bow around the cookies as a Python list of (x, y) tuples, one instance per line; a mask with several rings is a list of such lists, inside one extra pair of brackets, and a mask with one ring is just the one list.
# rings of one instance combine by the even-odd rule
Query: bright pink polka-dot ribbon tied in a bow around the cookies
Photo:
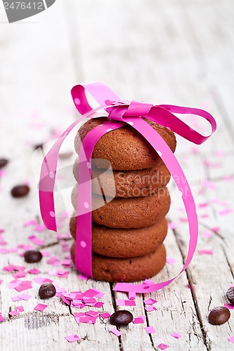
[[(93, 109), (86, 99), (86, 91), (100, 104), (100, 107)], [(190, 231), (190, 241), (188, 246), (188, 256), (183, 265), (181, 274), (193, 258), (197, 246), (198, 223), (195, 202), (191, 193), (188, 181), (178, 164), (174, 153), (171, 152), (169, 146), (162, 137), (153, 129), (150, 124), (143, 120), (143, 117), (151, 121), (161, 124), (171, 131), (174, 131), (183, 138), (190, 140), (195, 144), (204, 143), (209, 136), (216, 130), (216, 122), (211, 114), (204, 110), (180, 107), (174, 105), (151, 105), (138, 101), (123, 101), (118, 98), (113, 91), (100, 82), (92, 84), (77, 85), (72, 88), (72, 98), (77, 110), (82, 117), (77, 119), (67, 130), (61, 135), (51, 150), (44, 158), (41, 166), (41, 176), (39, 182), (39, 200), (41, 208), (41, 217), (44, 224), (49, 230), (57, 230), (56, 213), (54, 207), (53, 190), (56, 180), (56, 168), (58, 164), (58, 153), (60, 146), (63, 144), (66, 136), (72, 129), (77, 126), (79, 121), (84, 117), (96, 118), (96, 112), (105, 110), (108, 112), (109, 121), (93, 128), (86, 134), (82, 147), (79, 150), (79, 191), (77, 195), (77, 237), (75, 248), (75, 265), (77, 270), (93, 277), (92, 274), (92, 230), (91, 230), (91, 157), (93, 148), (98, 140), (109, 131), (121, 128), (125, 124), (131, 125), (136, 131), (141, 133), (148, 140), (155, 151), (160, 154), (162, 161), (169, 169), (171, 176), (174, 178), (178, 190), (181, 192), (183, 204), (186, 208), (188, 216), (188, 225)], [(201, 135), (194, 131), (181, 119), (178, 119), (172, 112), (176, 114), (195, 114), (209, 121), (212, 126), (212, 133), (208, 136)], [(114, 290), (117, 291), (134, 291), (136, 293), (146, 293), (157, 291), (167, 286), (176, 279), (173, 277), (166, 282), (158, 284), (127, 284), (117, 283)]]

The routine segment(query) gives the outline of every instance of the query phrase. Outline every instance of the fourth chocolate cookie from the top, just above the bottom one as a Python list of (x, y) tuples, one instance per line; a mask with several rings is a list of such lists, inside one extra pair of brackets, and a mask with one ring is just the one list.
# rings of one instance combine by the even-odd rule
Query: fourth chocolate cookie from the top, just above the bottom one
[[(70, 219), (70, 232), (76, 239), (77, 217)], [(117, 229), (92, 225), (93, 252), (103, 256), (127, 258), (147, 255), (162, 244), (167, 235), (167, 220), (150, 227)]]

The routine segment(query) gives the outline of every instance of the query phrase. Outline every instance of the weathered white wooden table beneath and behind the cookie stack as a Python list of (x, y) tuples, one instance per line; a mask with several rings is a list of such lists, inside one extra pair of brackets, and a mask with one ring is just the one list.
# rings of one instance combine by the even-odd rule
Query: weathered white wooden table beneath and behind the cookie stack
[[(195, 195), (198, 250), (213, 250), (213, 255), (197, 251), (176, 282), (157, 293), (137, 296), (136, 307), (126, 308), (135, 317), (145, 316), (145, 323), (121, 328), (122, 336), (117, 338), (109, 332), (107, 319), (77, 324), (72, 315), (77, 309), (67, 307), (60, 298), (48, 300), (44, 312), (34, 311), (41, 302), (39, 284), (33, 281), (37, 275), (23, 278), (33, 282), (26, 291), (32, 298), (13, 303), (11, 297), (18, 293), (8, 289), (8, 283), (14, 278), (2, 267), (25, 263), (20, 249), (1, 253), (2, 350), (157, 350), (160, 343), (169, 345), (169, 350), (234, 347), (227, 340), (234, 334), (233, 311), (222, 326), (212, 326), (207, 320), (212, 307), (227, 303), (226, 290), (234, 283), (233, 15), (232, 0), (64, 0), (34, 18), (8, 25), (0, 8), (0, 157), (10, 159), (0, 179), (0, 225), (7, 243), (1, 249), (32, 244), (28, 237), (35, 234), (44, 240), (39, 249), (59, 258), (66, 254), (55, 233), (34, 232), (23, 223), (40, 220), (32, 171), (34, 145), (51, 140), (51, 130), (54, 134), (63, 131), (78, 117), (70, 97), (74, 84), (100, 80), (124, 99), (204, 108), (218, 124), (218, 131), (199, 147), (177, 138), (176, 151)], [(187, 121), (206, 130), (198, 117)], [(72, 150), (71, 140), (66, 150)], [(61, 167), (72, 161), (62, 160)], [(36, 155), (33, 168), (38, 165)], [(24, 181), (30, 182), (30, 195), (13, 199), (11, 188)], [(175, 261), (167, 263), (155, 282), (178, 274), (188, 247), (183, 206), (172, 182), (169, 187), (168, 219), (176, 226), (169, 230), (166, 247), (167, 256)], [(67, 230), (68, 220), (60, 233)], [(26, 267), (29, 270), (32, 265)], [(112, 291), (112, 284), (79, 280), (74, 269), (67, 278), (51, 277), (48, 270), (56, 267), (47, 265), (46, 258), (33, 267), (41, 271), (39, 276), (53, 279), (67, 291), (96, 287), (105, 292), (101, 311), (119, 310), (123, 307), (116, 307), (115, 299), (127, 298)], [(145, 311), (143, 299), (148, 297), (158, 301), (156, 311)], [(25, 312), (8, 316), (15, 305), (23, 305)], [(148, 335), (145, 326), (154, 326), (156, 333)], [(171, 337), (174, 332), (182, 337)], [(65, 340), (74, 333), (82, 338), (79, 345)]]

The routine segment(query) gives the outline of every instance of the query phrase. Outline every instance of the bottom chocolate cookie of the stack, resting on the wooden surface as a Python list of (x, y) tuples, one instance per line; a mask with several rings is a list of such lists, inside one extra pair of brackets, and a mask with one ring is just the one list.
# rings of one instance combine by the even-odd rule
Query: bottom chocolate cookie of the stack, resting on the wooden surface
[[(71, 247), (74, 262), (75, 242)], [(110, 258), (93, 253), (93, 278), (105, 282), (137, 282), (153, 277), (166, 263), (166, 250), (161, 244), (152, 253), (135, 258)]]

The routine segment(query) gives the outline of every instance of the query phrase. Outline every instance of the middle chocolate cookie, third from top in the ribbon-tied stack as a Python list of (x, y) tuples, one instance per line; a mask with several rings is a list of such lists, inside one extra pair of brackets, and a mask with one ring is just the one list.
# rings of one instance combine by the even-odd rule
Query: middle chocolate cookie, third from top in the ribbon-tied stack
[[(106, 200), (110, 200), (107, 203)], [(93, 194), (93, 223), (112, 228), (141, 228), (162, 220), (169, 211), (171, 199), (167, 187), (161, 187), (149, 197), (105, 199)], [(72, 190), (72, 204), (77, 208), (77, 188)]]

